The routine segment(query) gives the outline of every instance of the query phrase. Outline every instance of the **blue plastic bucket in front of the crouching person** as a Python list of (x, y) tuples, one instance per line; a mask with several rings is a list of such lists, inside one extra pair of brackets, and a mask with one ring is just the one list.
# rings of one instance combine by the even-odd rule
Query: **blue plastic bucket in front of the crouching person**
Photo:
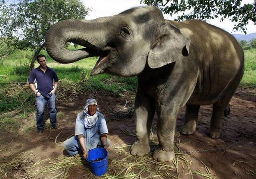
[[(104, 148), (95, 148), (90, 150), (89, 157), (86, 160), (89, 162), (92, 173), (96, 176), (103, 175), (108, 169), (108, 152)], [(101, 159), (100, 161), (95, 161)]]

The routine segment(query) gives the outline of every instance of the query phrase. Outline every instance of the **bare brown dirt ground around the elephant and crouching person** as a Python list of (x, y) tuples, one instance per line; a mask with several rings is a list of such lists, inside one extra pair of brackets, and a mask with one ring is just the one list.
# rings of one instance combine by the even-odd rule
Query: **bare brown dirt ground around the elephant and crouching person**
[[(58, 112), (61, 112), (62, 115), (58, 118), (59, 128), (57, 130), (46, 129), (43, 134), (38, 134), (36, 129), (34, 129), (15, 139), (2, 131), (2, 138), (4, 136), (4, 140), (0, 148), (0, 151), (2, 151), (0, 153), (0, 162), (9, 162), (8, 160), (19, 155), (27, 156), (23, 163), (20, 163), (18, 166), (16, 165), (15, 168), (9, 168), (11, 174), (6, 178), (30, 178), (29, 173), (26, 173), (22, 164), (30, 163), (35, 165), (37, 161), (47, 161), (48, 158), (51, 158), (52, 161), (56, 157), (63, 156), (64, 150), (61, 142), (74, 135), (76, 114), (82, 110), (85, 100), (89, 97), (97, 99), (100, 112), (104, 114), (107, 120), (108, 138), (111, 141), (108, 163), (119, 157), (120, 154), (116, 153), (113, 147), (122, 144), (132, 144), (135, 140), (134, 136), (124, 132), (134, 133), (134, 115), (122, 117), (123, 113), (118, 113), (118, 111), (125, 111), (126, 107), (133, 106), (134, 94), (124, 94), (122, 97), (117, 97), (95, 92), (93, 95), (79, 96), (72, 101), (58, 101)], [(223, 117), (222, 135), (219, 139), (211, 139), (206, 134), (212, 112), (212, 106), (210, 105), (201, 106), (195, 134), (190, 136), (179, 135), (179, 131), (184, 123), (186, 110), (184, 106), (177, 118), (175, 143), (180, 148), (180, 153), (184, 151), (198, 151), (184, 154), (191, 161), (191, 171), (195, 169), (202, 171), (206, 169), (204, 166), (207, 166), (212, 176), (218, 179), (254, 179), (256, 178), (256, 89), (237, 89), (230, 102), (230, 106), (231, 114)], [(35, 112), (28, 118), (35, 119)], [(33, 120), (33, 122), (35, 121)], [(153, 127), (156, 125), (156, 122), (157, 116), (154, 117)], [(157, 140), (155, 133), (153, 137), (154, 140)], [(166, 163), (172, 165), (172, 162)], [(43, 164), (42, 167), (44, 167)], [(191, 178), (191, 175), (187, 175), (188, 172), (184, 171), (182, 166), (176, 171), (178, 171), (178, 177), (181, 179)], [(171, 173), (177, 177), (176, 171), (171, 171)], [(52, 176), (51, 173), (48, 173), (48, 175), (43, 177), (38, 175), (36, 178), (52, 178)], [(141, 178), (146, 177), (145, 174), (141, 175)], [(61, 176), (56, 178), (61, 178)], [(86, 177), (81, 167), (72, 167), (70, 169), (70, 178), (80, 179), (88, 177)], [(122, 177), (120, 176), (120, 178)], [(209, 177), (193, 174), (193, 178), (203, 179)]]

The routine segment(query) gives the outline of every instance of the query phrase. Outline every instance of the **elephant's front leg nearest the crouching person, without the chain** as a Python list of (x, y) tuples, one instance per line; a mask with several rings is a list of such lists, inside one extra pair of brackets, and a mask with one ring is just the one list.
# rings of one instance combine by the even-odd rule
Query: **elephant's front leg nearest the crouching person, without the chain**
[(154, 100), (138, 89), (135, 98), (136, 141), (130, 148), (132, 155), (142, 156), (150, 152), (149, 135), (154, 113)]

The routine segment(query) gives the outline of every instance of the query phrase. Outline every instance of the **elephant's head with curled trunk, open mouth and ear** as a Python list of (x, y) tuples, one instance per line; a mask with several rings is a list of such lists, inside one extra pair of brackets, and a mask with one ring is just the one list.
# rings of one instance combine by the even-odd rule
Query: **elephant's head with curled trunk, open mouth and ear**
[[(85, 48), (69, 51), (67, 42)], [(63, 20), (46, 35), (46, 50), (60, 63), (98, 56), (91, 75), (138, 75), (146, 65), (154, 69), (183, 59), (188, 55), (189, 43), (154, 6), (95, 20)]]

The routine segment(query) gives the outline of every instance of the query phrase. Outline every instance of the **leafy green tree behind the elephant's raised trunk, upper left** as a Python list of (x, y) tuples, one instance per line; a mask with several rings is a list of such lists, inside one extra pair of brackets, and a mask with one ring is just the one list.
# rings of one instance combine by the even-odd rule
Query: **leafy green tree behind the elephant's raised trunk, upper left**
[(84, 19), (88, 14), (80, 0), (2, 0), (0, 2), (0, 37), (12, 39), (16, 49), (34, 49), (30, 69), (44, 48), (48, 29), (60, 20)]

